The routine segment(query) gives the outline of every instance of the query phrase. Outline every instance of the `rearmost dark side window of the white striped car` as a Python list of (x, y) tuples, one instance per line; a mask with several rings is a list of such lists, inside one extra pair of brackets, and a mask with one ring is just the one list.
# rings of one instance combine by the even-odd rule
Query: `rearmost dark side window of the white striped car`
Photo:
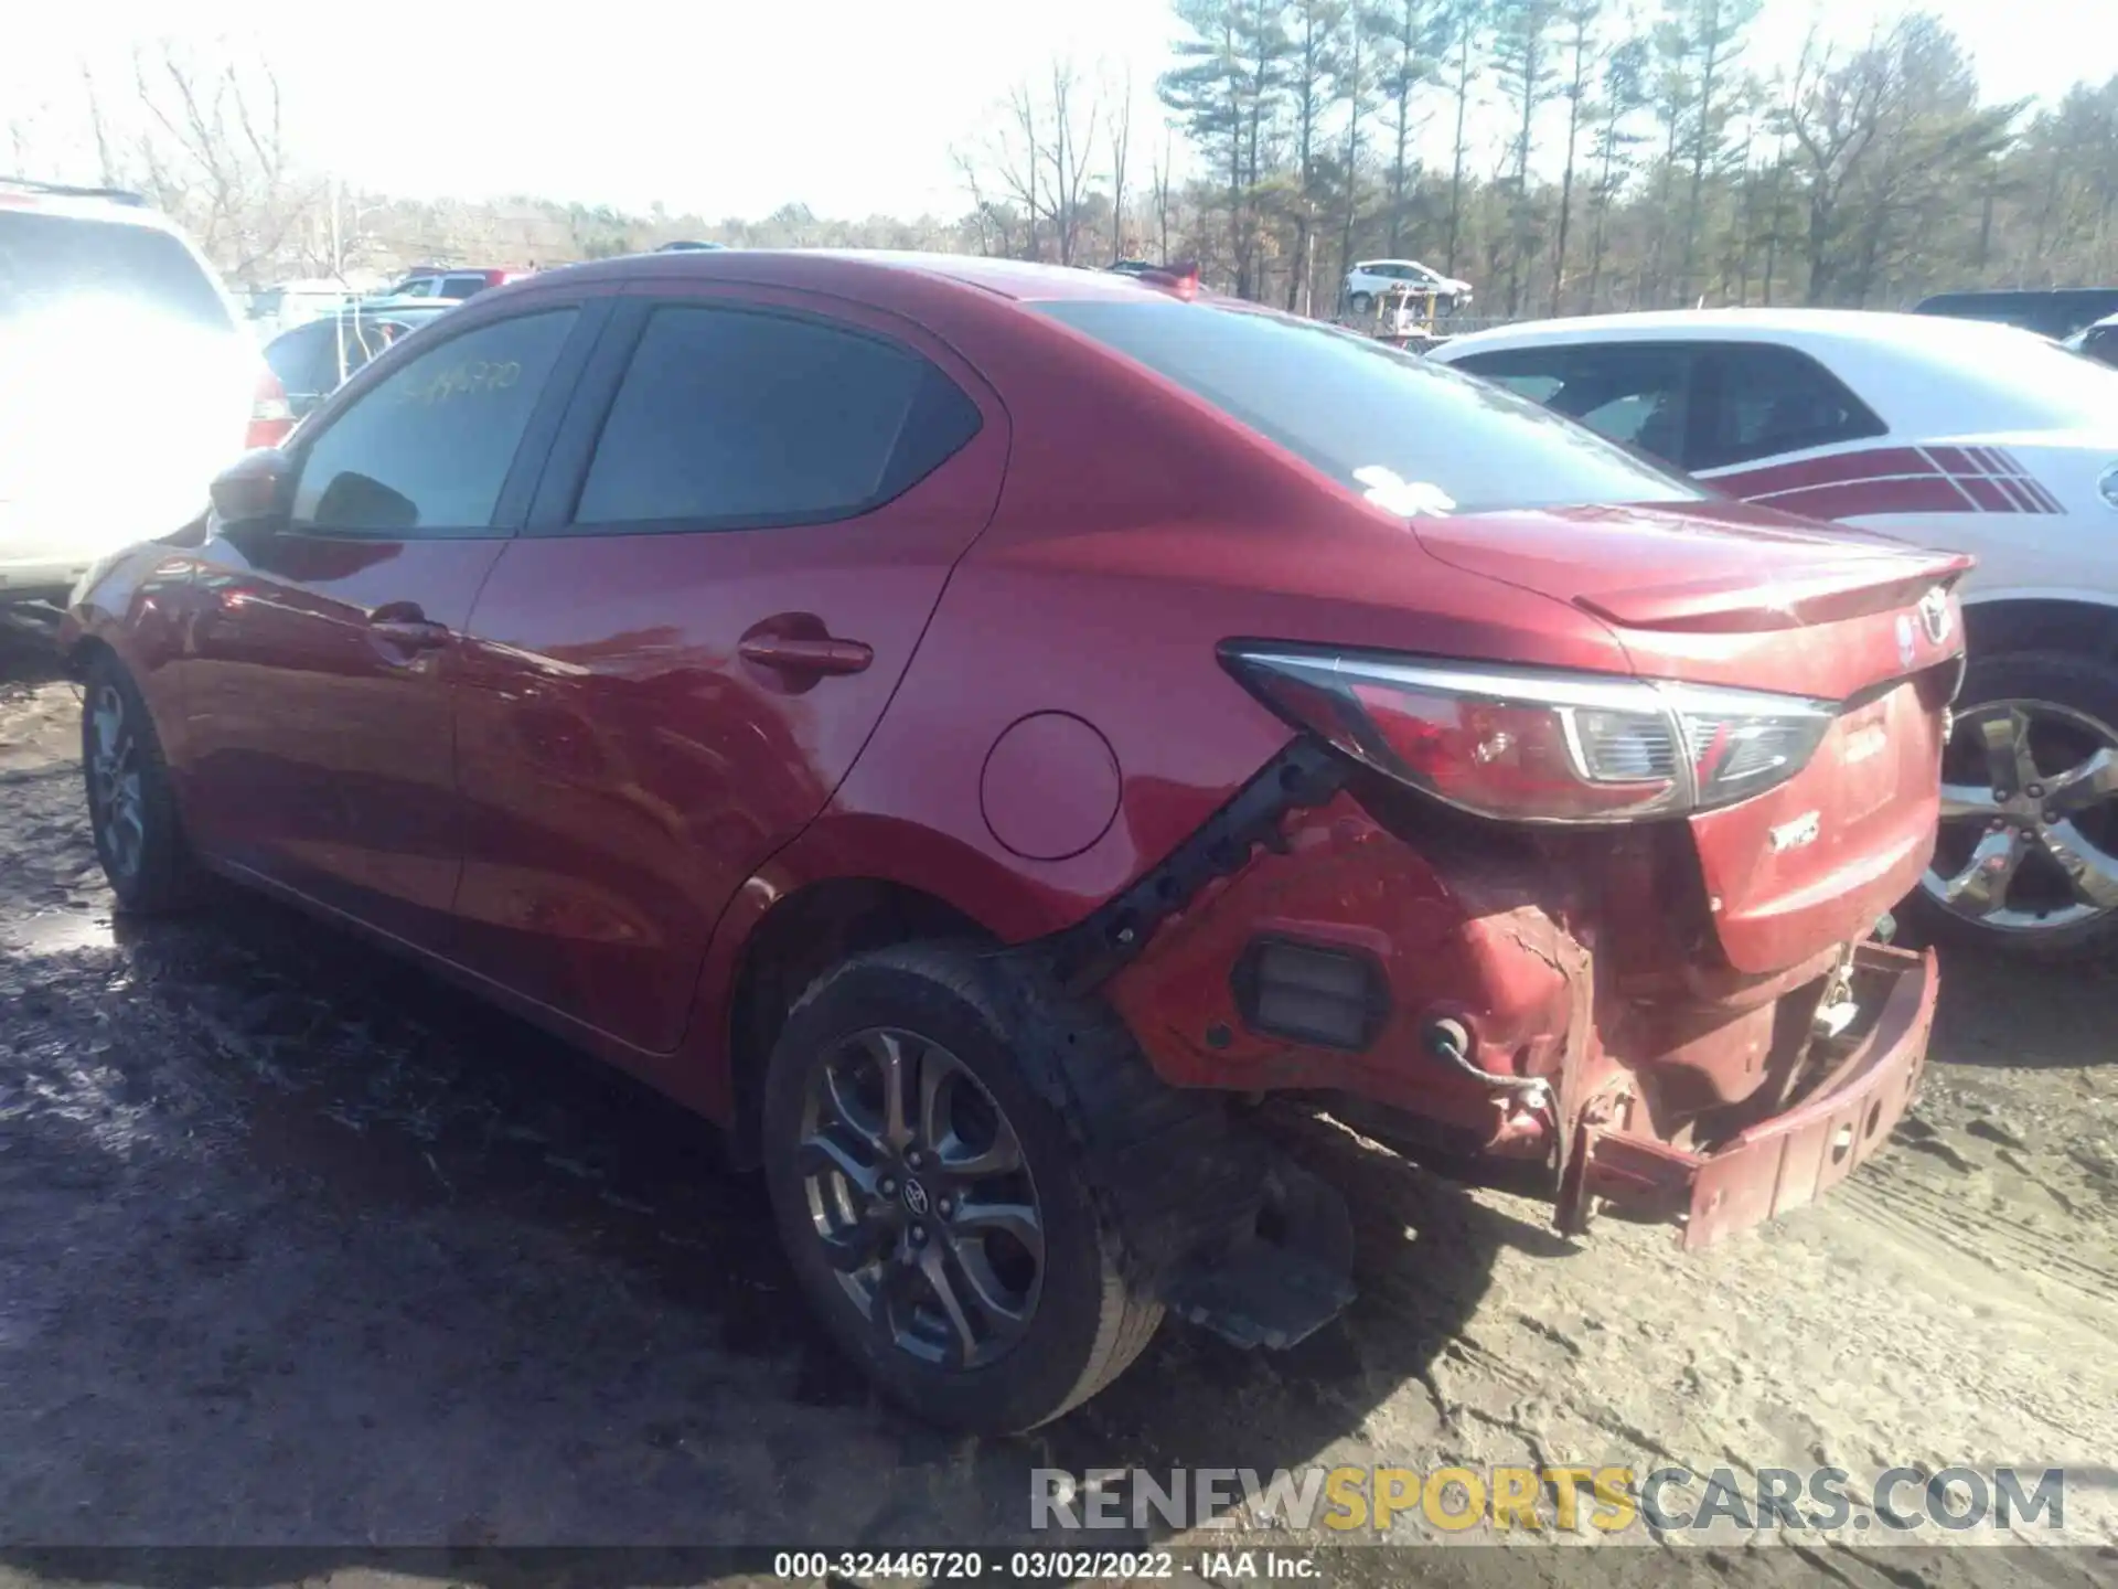
[(1709, 347), (1701, 354), (1701, 388), (1705, 400), (1684, 460), (1692, 468), (1726, 468), (1889, 434), (1836, 375), (1794, 347)]

